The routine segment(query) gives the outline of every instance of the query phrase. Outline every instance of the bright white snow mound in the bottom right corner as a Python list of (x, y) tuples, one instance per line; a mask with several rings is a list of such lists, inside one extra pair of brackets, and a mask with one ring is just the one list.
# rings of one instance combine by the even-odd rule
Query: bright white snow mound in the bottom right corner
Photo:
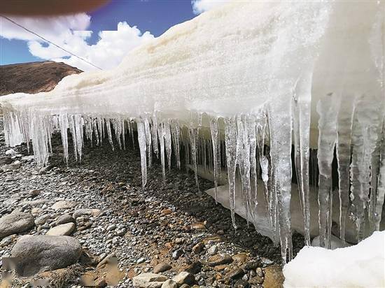
[(385, 287), (385, 231), (335, 250), (303, 247), (283, 267), (283, 287)]

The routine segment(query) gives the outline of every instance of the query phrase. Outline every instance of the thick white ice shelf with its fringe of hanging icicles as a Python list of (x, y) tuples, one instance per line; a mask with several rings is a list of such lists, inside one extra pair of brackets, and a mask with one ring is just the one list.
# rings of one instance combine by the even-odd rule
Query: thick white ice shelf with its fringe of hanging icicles
[(132, 50), (116, 69), (2, 96), (6, 142), (31, 142), (45, 165), (55, 131), (66, 160), (71, 134), (78, 161), (87, 141), (124, 149), (137, 133), (144, 189), (154, 155), (164, 179), (182, 150), (196, 180), (200, 165), (212, 169), (214, 197), (227, 172), (235, 228), (239, 205), (257, 226), (264, 210), (284, 262), (293, 257), (293, 193), (307, 245), (314, 196), (321, 247), (335, 206), (337, 236), (346, 240), (351, 220), (363, 240), (380, 229), (385, 194), (384, 15), (384, 1), (232, 1)]

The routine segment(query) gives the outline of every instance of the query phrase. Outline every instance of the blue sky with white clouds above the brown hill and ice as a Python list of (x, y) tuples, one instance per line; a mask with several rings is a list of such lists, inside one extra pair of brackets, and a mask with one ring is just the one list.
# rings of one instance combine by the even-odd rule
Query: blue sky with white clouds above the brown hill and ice
[[(169, 27), (190, 20), (219, 2), (221, 1), (112, 0), (99, 10), (81, 15), (52, 19), (9, 17), (93, 64), (110, 69), (120, 63), (127, 51), (145, 41), (151, 41)], [(92, 33), (79, 34), (76, 32), (79, 30)], [(107, 54), (109, 57), (106, 57)], [(92, 70), (92, 67), (79, 62), (75, 57), (43, 43), (0, 18), (1, 65), (50, 59), (66, 62), (83, 70)]]

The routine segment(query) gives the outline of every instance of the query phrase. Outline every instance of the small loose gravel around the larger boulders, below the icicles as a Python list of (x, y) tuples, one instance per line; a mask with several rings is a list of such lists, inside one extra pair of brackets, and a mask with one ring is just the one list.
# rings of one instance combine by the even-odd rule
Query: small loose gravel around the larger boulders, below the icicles
[[(213, 183), (199, 179), (198, 191), (194, 175), (174, 167), (163, 183), (157, 160), (148, 169), (148, 184), (142, 189), (139, 149), (137, 145), (133, 149), (129, 139), (126, 143), (127, 150), (112, 151), (108, 140), (94, 147), (86, 142), (81, 164), (70, 156), (67, 165), (55, 135), (50, 168), (43, 170), (29, 157), (26, 145), (14, 147), (15, 154), (20, 154), (15, 161), (21, 164), (0, 173), (0, 216), (13, 211), (31, 213), (36, 226), (2, 241), (0, 257), (10, 257), (20, 235), (44, 235), (64, 218), (67, 223), (76, 218), (71, 236), (94, 259), (92, 264), (82, 264), (83, 271), (102, 277), (101, 269), (115, 259), (118, 287), (132, 287), (135, 275), (152, 272), (158, 264), (172, 267), (161, 273), (167, 279), (188, 271), (193, 275), (188, 280), (194, 279), (190, 285), (200, 287), (235, 287), (237, 281), (238, 287), (245, 282), (258, 287), (266, 267), (280, 267), (279, 247), (241, 217), (236, 217), (239, 228), (235, 231), (230, 211), (204, 193)], [(6, 150), (0, 135), (1, 157)], [(69, 151), (73, 151), (71, 145)], [(39, 193), (33, 193), (31, 200), (33, 190)], [(293, 244), (296, 253), (303, 246), (302, 236), (296, 234)], [(245, 261), (232, 261), (240, 253), (245, 254)], [(215, 265), (213, 259), (218, 261)], [(100, 261), (104, 263), (100, 265)], [(78, 287), (79, 279), (68, 287)]]

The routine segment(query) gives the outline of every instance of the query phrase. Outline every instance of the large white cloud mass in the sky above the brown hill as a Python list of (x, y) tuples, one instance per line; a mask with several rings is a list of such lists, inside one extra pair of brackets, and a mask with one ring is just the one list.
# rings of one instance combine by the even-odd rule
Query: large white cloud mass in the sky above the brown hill
[[(89, 45), (87, 38), (92, 35), (92, 31), (86, 31), (90, 26), (90, 16), (85, 13), (55, 18), (12, 17), (12, 19), (102, 69), (117, 66), (128, 51), (154, 38), (148, 31), (141, 34), (137, 27), (130, 27), (127, 22), (119, 22), (116, 31), (99, 31), (99, 41)], [(29, 52), (41, 59), (64, 62), (83, 71), (95, 69), (6, 20), (1, 20), (0, 36), (27, 41)]]

